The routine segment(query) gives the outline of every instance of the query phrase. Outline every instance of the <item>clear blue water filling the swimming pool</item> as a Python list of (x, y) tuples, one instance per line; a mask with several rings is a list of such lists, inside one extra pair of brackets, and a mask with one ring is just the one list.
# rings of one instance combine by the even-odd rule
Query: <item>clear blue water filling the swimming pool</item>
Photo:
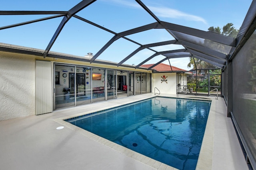
[(68, 122), (174, 168), (193, 170), (210, 104), (156, 97)]

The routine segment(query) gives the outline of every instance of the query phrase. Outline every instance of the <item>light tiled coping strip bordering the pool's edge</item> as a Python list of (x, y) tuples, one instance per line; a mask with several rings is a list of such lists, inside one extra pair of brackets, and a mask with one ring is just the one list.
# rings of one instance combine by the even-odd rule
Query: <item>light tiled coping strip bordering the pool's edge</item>
[[(108, 110), (108, 109), (111, 109), (111, 108), (114, 108), (114, 107), (119, 107), (119, 106), (124, 106), (124, 105), (127, 105), (127, 104), (132, 104), (132, 103), (135, 103), (135, 102), (140, 102), (140, 101), (143, 101), (143, 100), (148, 100), (150, 98), (154, 98), (154, 97), (166, 97), (166, 98), (176, 98), (176, 99), (186, 99), (186, 100), (199, 100), (199, 101), (210, 101), (211, 102), (211, 107), (210, 107), (210, 111), (209, 111), (209, 114), (208, 114), (208, 119), (207, 119), (207, 122), (206, 122), (206, 129), (205, 129), (205, 132), (204, 132), (204, 137), (203, 137), (203, 140), (202, 140), (202, 145), (201, 145), (201, 149), (200, 149), (200, 152), (199, 152), (199, 156), (198, 156), (198, 162), (196, 164), (196, 170), (205, 170), (205, 169), (211, 169), (212, 168), (212, 158), (213, 158), (213, 142), (214, 142), (214, 122), (215, 122), (215, 109), (213, 109), (212, 107), (212, 104), (215, 102), (213, 102), (214, 100), (212, 100), (211, 98), (200, 98), (200, 97), (195, 97), (195, 98), (191, 98), (191, 97), (186, 97), (186, 96), (182, 96), (182, 97), (173, 97), (173, 96), (166, 96), (166, 95), (159, 95), (159, 96), (148, 96), (147, 98), (144, 98), (144, 99), (137, 99), (137, 100), (134, 100), (134, 101), (129, 101), (129, 102), (126, 102), (126, 103), (122, 103), (122, 104), (116, 104), (116, 105), (113, 105), (113, 106), (108, 106), (108, 107), (104, 107), (104, 108), (100, 108), (100, 109), (96, 109), (94, 111), (86, 111), (86, 112), (83, 112), (83, 113), (78, 113), (78, 114), (74, 114), (74, 115), (68, 115), (68, 116), (65, 116), (65, 117), (60, 117), (60, 118), (57, 118), (57, 119), (54, 119), (54, 121), (94, 140), (94, 141), (97, 141), (98, 143), (101, 143), (121, 154), (124, 154), (136, 161), (139, 161), (143, 164), (146, 164), (148, 166), (150, 166), (151, 168), (154, 168), (154, 169), (158, 169), (158, 170), (178, 170), (172, 166), (169, 166), (167, 164), (164, 164), (162, 162), (159, 162), (157, 160), (154, 160), (152, 158), (149, 158), (143, 154), (140, 154), (138, 152), (135, 152), (133, 150), (130, 150), (126, 147), (123, 147), (121, 145), (118, 145), (112, 141), (109, 141), (103, 137), (100, 137), (98, 135), (95, 135), (94, 133), (91, 133), (89, 131), (86, 131), (80, 127), (77, 127), (71, 123), (69, 123), (68, 121), (66, 121), (66, 119), (70, 119), (72, 117), (78, 117), (78, 116), (82, 116), (82, 115), (85, 115), (85, 114), (89, 114), (91, 112), (95, 113), (95, 112), (100, 112), (100, 111), (103, 111), (103, 110)], [(209, 117), (211, 118), (211, 120), (209, 119)], [(209, 124), (209, 125), (208, 125)], [(212, 128), (213, 126), (213, 128)], [(206, 133), (208, 133), (206, 135)], [(209, 154), (210, 153), (210, 154)], [(209, 156), (210, 155), (210, 159), (209, 159)]]

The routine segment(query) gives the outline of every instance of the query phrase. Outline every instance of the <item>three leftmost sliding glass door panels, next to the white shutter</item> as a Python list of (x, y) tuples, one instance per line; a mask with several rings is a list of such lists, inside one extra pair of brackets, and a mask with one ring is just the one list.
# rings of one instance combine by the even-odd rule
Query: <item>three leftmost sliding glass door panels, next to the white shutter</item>
[(105, 70), (54, 64), (54, 109), (105, 100)]

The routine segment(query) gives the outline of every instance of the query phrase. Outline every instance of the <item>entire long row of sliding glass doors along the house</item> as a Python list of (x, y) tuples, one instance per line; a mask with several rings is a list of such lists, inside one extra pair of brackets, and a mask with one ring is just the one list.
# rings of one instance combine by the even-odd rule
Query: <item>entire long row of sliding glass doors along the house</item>
[(151, 74), (54, 63), (54, 109), (151, 92)]

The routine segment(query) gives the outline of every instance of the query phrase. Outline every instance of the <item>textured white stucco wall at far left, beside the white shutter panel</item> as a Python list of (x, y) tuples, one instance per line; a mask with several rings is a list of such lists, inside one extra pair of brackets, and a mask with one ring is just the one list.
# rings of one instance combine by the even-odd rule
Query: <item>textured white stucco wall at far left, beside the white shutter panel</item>
[(0, 121), (34, 114), (34, 57), (0, 52)]

